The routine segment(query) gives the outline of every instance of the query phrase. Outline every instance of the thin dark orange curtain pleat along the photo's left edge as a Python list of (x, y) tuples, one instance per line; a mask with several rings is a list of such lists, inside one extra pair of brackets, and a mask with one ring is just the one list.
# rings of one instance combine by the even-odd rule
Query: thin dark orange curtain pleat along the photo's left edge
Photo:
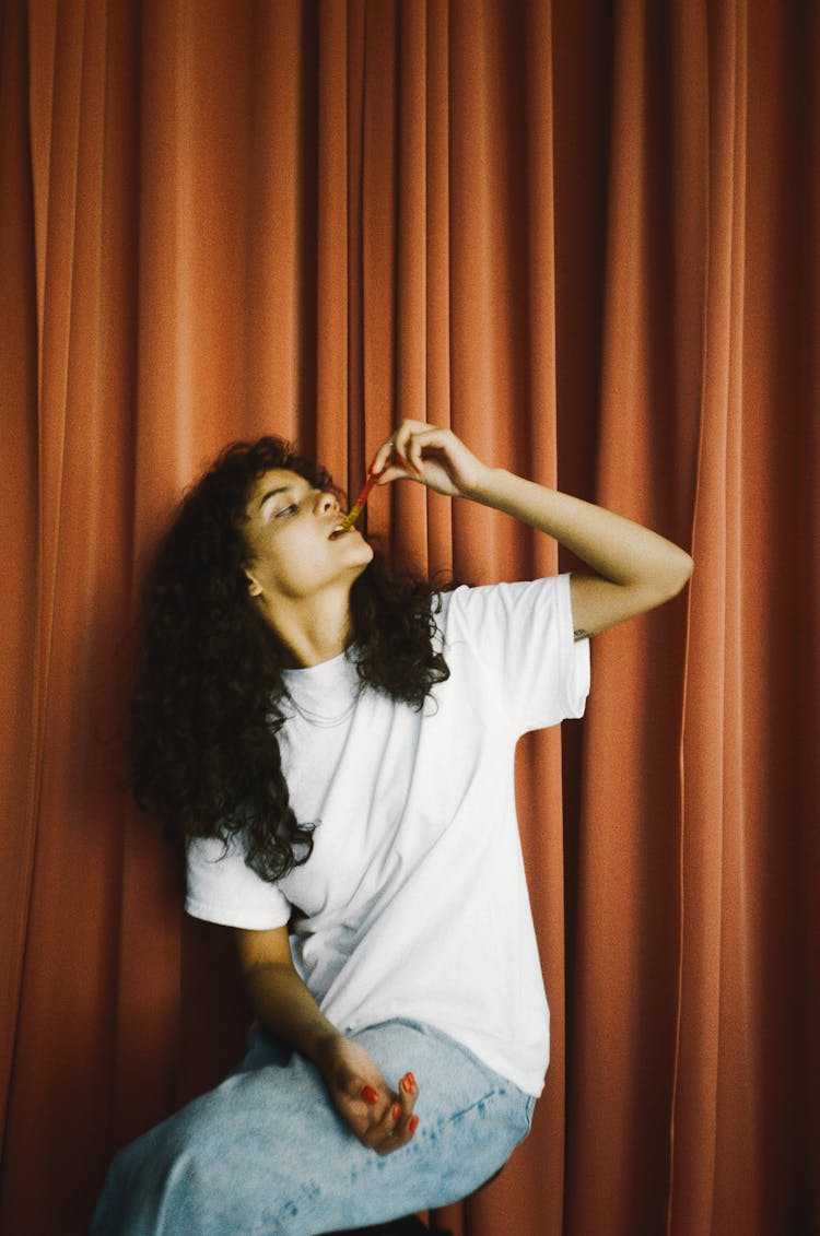
[(2, 794), (2, 895), (0, 896), (0, 1105), (5, 1126), (20, 1016), (28, 902), (35, 860), (35, 810), (40, 775), (36, 735), (40, 692), (33, 667), (38, 646), (37, 572), (37, 289), (33, 185), (27, 111), (25, 14), (0, 10), (0, 366), (10, 376), (0, 415), (0, 496), (4, 510), (4, 620), (0, 624), (0, 792)]

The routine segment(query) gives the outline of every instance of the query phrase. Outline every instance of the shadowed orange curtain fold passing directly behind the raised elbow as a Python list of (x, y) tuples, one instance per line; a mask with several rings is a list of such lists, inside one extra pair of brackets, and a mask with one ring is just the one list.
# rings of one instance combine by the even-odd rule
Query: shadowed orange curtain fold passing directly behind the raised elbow
[[(620, 4), (611, 17), (591, 483), (605, 506), (689, 544), (700, 433), (710, 44), (700, 6)], [(560, 308), (559, 300), (559, 315)], [(680, 949), (684, 623), (675, 604), (594, 641), (597, 698), (584, 727), (568, 980), (573, 1232), (660, 1232), (665, 1225)], [(595, 1138), (587, 1135), (592, 1127)], [(709, 1229), (693, 1229), (700, 1230)]]

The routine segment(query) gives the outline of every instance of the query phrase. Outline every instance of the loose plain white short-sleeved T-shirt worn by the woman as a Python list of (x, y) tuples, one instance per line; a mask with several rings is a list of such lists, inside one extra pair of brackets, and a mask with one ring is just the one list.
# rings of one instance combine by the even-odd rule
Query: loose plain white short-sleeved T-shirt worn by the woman
[(569, 576), (443, 596), (450, 677), (421, 709), (357, 691), (343, 654), (289, 670), (282, 766), (314, 850), (277, 884), (216, 839), (188, 847), (186, 908), (267, 929), (293, 915), (297, 969), (343, 1032), (435, 1026), (538, 1095), (549, 1011), (515, 806), (518, 738), (579, 717), (589, 643)]

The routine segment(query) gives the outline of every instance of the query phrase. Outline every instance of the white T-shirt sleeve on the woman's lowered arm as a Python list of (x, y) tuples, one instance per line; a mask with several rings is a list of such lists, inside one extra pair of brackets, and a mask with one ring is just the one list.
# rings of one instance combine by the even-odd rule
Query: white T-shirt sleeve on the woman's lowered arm
[(225, 927), (268, 931), (283, 927), (291, 917), (291, 904), (284, 894), (246, 865), (236, 838), (228, 843), (215, 837), (190, 838), (187, 884), (186, 910), (194, 918)]

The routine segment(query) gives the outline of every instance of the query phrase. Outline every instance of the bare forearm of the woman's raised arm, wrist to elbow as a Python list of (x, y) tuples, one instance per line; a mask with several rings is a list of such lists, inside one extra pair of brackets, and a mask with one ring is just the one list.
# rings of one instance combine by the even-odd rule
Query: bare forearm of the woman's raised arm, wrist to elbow
[(486, 468), (465, 496), (555, 538), (596, 575), (621, 587), (665, 599), (691, 572), (689, 555), (664, 536), (503, 468)]

